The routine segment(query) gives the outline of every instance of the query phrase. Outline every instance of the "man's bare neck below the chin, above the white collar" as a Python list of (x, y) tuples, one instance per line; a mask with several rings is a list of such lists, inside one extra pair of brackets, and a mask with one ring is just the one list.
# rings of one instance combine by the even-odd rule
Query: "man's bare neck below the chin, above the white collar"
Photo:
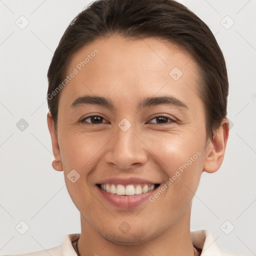
[(147, 241), (138, 241), (137, 244), (120, 245), (113, 239), (102, 237), (81, 214), (81, 234), (77, 242), (80, 256), (129, 256), (139, 255), (197, 255), (190, 236), (191, 205), (183, 212), (178, 220), (162, 233), (156, 234)]

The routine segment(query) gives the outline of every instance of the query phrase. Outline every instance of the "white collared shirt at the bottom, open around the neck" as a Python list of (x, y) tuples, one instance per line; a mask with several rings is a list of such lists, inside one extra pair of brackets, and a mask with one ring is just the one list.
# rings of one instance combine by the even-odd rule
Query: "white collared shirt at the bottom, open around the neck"
[[(0, 256), (77, 256), (74, 246), (75, 241), (79, 238), (80, 233), (67, 234), (61, 245), (49, 248), (47, 250), (39, 250), (25, 254), (6, 254)], [(202, 252), (200, 256), (238, 256), (232, 252), (217, 247), (214, 238), (208, 230), (197, 230), (191, 232), (192, 243)]]

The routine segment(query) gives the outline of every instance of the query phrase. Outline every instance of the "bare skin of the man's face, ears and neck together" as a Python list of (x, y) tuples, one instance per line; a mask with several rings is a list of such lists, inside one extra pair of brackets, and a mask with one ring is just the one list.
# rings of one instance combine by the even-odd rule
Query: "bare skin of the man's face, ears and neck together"
[[(64, 171), (67, 190), (81, 213), (79, 254), (194, 255), (192, 197), (201, 173), (214, 172), (222, 163), (228, 121), (222, 121), (212, 141), (207, 138), (204, 106), (196, 93), (197, 66), (188, 52), (156, 38), (126, 40), (112, 35), (79, 49), (67, 73), (95, 48), (98, 53), (60, 92), (57, 134), (47, 115), (56, 158), (52, 166)], [(177, 80), (169, 75), (174, 67), (183, 73)], [(70, 107), (83, 95), (107, 97), (115, 109), (94, 104)], [(138, 101), (152, 96), (171, 96), (187, 107), (137, 108)], [(102, 119), (79, 122), (91, 115)], [(131, 124), (126, 131), (118, 126), (123, 118)], [(95, 185), (105, 178), (140, 177), (161, 187), (197, 151), (200, 156), (154, 202), (119, 208)], [(80, 174), (74, 183), (67, 178), (72, 169)], [(118, 228), (123, 221), (130, 226), (126, 233)]]

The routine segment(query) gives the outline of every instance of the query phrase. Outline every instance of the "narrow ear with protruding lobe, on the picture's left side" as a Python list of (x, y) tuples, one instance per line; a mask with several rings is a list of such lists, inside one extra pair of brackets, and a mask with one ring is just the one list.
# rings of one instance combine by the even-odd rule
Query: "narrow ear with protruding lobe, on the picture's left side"
[(47, 113), (47, 124), (50, 132), (52, 152), (54, 155), (54, 159), (52, 160), (52, 167), (55, 170), (62, 171), (63, 166), (62, 166), (61, 154), (58, 146), (58, 137), (57, 137), (57, 133), (54, 130), (53, 119), (51, 117), (50, 112)]

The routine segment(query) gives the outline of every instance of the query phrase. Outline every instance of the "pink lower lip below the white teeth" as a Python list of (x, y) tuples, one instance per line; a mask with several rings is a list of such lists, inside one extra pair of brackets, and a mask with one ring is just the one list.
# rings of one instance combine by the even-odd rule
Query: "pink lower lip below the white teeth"
[(102, 188), (99, 188), (96, 186), (99, 190), (100, 194), (111, 204), (123, 208), (128, 209), (135, 206), (140, 205), (143, 201), (147, 200), (155, 191), (156, 188), (153, 190), (142, 193), (142, 194), (134, 194), (134, 195), (118, 195), (118, 194), (112, 194), (108, 193)]

